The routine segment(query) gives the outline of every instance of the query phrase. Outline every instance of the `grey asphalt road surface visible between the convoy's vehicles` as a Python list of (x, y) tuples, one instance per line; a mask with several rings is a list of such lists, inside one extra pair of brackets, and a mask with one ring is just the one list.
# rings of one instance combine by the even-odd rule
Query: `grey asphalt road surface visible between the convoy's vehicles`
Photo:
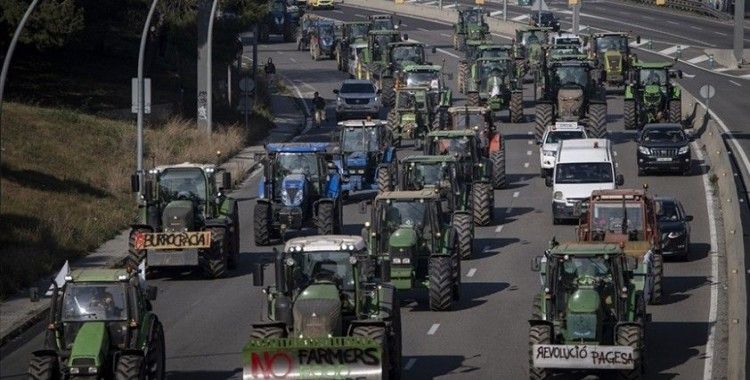
[[(347, 7), (324, 12), (342, 20), (361, 19), (369, 13)], [(445, 59), (448, 68), (457, 65), (457, 52), (448, 47), (449, 26), (402, 19), (411, 38), (443, 47), (432, 57), (433, 62)], [(293, 44), (265, 45), (260, 56), (263, 60), (273, 57), (278, 72), (293, 80), (301, 92), (316, 90), (330, 101), (332, 90), (345, 79), (332, 61), (312, 61), (309, 54), (297, 52)], [(527, 376), (527, 319), (539, 284), (537, 274), (529, 271), (529, 261), (543, 252), (552, 236), (558, 240), (574, 239), (574, 226), (552, 225), (551, 191), (538, 176), (537, 146), (529, 135), (533, 125), (529, 91), (527, 101), (526, 122), (502, 126), (510, 186), (496, 192), (496, 222), (476, 230), (474, 257), (462, 264), (463, 298), (456, 310), (426, 310), (423, 303), (413, 301), (424, 299), (423, 292), (408, 294), (402, 306), (405, 378)], [(622, 132), (620, 96), (610, 96), (608, 120), (626, 186), (639, 188), (645, 182), (652, 193), (676, 195), (695, 217), (690, 260), (667, 263), (665, 303), (649, 307), (653, 322), (647, 330), (647, 377), (700, 379), (706, 360), (711, 272), (705, 194), (697, 174), (702, 168), (696, 161), (695, 174), (688, 177), (638, 177), (632, 134)], [(302, 139), (327, 140), (331, 131), (332, 125), (312, 129)], [(404, 154), (400, 152), (402, 157)], [(255, 173), (234, 193), (244, 199), (240, 208), (243, 254), (238, 270), (220, 280), (169, 273), (153, 281), (159, 287), (155, 308), (165, 326), (169, 378), (241, 378), (240, 350), (249, 336), (250, 324), (259, 318), (264, 306), (260, 289), (251, 285), (252, 263), (268, 259), (271, 254), (270, 247), (259, 248), (253, 243), (252, 209), (257, 181)], [(365, 215), (357, 210), (357, 204), (345, 208), (347, 233), (359, 234), (365, 221)], [(266, 278), (272, 278), (270, 268)], [(27, 334), (27, 343), (3, 353), (0, 378), (24, 377), (30, 352), (41, 346), (39, 331), (41, 326)]]

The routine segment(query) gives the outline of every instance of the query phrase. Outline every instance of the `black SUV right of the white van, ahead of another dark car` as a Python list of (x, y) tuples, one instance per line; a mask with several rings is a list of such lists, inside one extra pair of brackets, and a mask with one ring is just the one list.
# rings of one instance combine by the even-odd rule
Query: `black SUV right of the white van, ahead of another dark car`
[(636, 142), (638, 175), (649, 171), (690, 174), (690, 137), (680, 124), (646, 124)]

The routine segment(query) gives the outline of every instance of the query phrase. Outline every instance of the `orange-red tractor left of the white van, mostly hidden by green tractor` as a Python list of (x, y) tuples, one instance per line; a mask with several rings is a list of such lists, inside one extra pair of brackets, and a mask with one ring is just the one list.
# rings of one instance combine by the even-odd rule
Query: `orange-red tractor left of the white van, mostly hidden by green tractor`
[(448, 121), (450, 129), (476, 133), (481, 156), (492, 163), (492, 187), (504, 188), (505, 146), (502, 134), (495, 128), (492, 112), (486, 107), (451, 107), (448, 109)]

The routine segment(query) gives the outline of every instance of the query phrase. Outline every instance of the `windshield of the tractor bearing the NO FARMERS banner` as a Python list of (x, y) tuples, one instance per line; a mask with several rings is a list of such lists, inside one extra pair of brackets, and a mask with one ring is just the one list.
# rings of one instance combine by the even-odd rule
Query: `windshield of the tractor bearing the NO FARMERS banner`
[(349, 252), (304, 252), (295, 253), (294, 256), (295, 261), (301, 264), (302, 274), (307, 279), (335, 279), (341, 281), (342, 290), (354, 289), (354, 273), (349, 261)]

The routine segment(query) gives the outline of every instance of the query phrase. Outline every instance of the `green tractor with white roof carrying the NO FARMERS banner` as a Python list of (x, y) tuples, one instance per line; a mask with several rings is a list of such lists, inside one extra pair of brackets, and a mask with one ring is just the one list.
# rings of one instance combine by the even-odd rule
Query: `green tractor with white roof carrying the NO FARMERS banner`
[[(243, 378), (398, 379), (401, 313), (396, 289), (373, 277), (359, 236), (289, 240), (275, 257), (262, 322), (242, 349)], [(263, 286), (263, 264), (253, 285)]]

